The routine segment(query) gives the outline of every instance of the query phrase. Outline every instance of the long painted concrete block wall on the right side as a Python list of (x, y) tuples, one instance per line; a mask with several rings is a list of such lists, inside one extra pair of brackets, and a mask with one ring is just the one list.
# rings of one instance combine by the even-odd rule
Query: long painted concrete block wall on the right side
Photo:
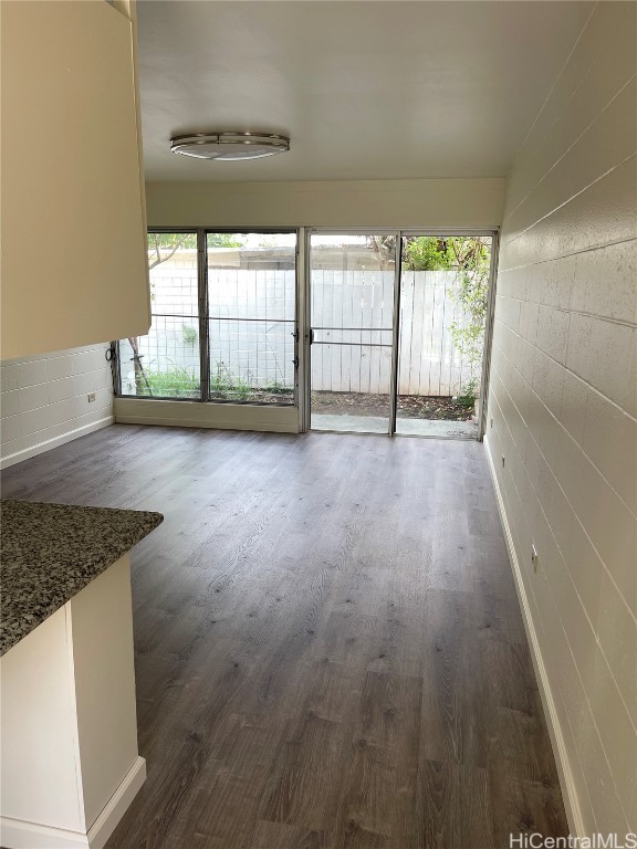
[(596, 6), (518, 155), (489, 398), (563, 789), (588, 834), (637, 831), (636, 31), (635, 3)]

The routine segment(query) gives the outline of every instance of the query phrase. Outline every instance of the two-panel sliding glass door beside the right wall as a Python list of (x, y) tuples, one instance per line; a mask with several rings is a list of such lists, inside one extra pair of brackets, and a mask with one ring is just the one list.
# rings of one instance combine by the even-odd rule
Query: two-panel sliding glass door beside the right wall
[(310, 234), (313, 430), (481, 437), (492, 245), (490, 232)]

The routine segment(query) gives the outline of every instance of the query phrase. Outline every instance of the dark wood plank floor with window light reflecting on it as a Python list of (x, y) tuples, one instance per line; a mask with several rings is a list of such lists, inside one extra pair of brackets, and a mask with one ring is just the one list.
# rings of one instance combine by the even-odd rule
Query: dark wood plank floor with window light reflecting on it
[(148, 779), (107, 849), (567, 834), (479, 443), (115, 426), (2, 492), (166, 516), (133, 553)]

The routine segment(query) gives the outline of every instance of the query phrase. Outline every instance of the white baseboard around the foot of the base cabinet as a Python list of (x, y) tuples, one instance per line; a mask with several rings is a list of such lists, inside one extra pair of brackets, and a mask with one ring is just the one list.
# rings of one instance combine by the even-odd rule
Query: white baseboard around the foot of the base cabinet
[(6, 849), (103, 849), (145, 780), (146, 761), (137, 757), (88, 834), (0, 817), (0, 842)]

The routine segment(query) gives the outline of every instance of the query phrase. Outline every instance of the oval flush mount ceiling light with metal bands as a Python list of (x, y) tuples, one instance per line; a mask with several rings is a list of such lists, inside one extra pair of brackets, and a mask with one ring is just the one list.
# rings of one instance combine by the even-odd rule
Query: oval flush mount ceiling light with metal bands
[(261, 159), (290, 150), (286, 136), (271, 133), (189, 133), (170, 139), (170, 150), (196, 159)]

